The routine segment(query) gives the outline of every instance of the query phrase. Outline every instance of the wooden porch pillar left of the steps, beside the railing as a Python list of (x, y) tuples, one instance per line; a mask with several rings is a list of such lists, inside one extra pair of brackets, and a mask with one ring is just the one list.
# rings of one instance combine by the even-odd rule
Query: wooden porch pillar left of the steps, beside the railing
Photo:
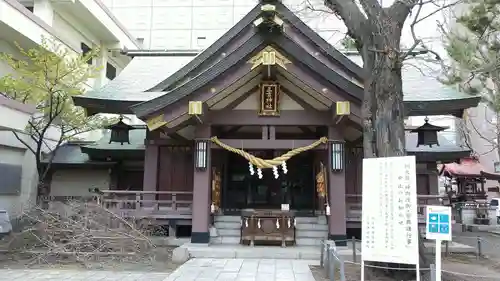
[[(200, 124), (196, 126), (196, 139), (209, 139), (211, 136), (210, 125)], [(195, 152), (196, 154), (196, 148)], [(211, 153), (210, 145), (207, 147), (207, 169), (194, 169), (193, 176), (193, 218), (191, 243), (208, 243), (210, 234), (208, 226), (210, 223), (210, 175), (211, 175)]]

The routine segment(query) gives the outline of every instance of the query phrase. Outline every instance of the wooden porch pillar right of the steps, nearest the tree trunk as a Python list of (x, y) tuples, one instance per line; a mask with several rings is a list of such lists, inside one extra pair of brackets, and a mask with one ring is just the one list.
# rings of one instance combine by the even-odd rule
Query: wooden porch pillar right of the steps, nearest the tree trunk
[[(343, 140), (336, 127), (328, 128), (330, 140)], [(330, 146), (330, 144), (329, 144)], [(345, 149), (344, 149), (345, 152)], [(345, 159), (345, 157), (344, 157)], [(346, 235), (346, 203), (345, 203), (345, 161), (342, 171), (332, 170), (332, 153), (328, 149), (328, 199), (330, 203), (330, 216), (328, 217), (328, 239), (334, 240), (337, 246), (347, 246)]]

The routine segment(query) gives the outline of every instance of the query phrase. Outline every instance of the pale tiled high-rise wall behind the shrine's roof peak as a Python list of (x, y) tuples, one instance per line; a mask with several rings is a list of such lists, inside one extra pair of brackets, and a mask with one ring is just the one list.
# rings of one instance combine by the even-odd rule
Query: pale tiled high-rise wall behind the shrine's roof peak
[[(103, 0), (145, 49), (205, 49), (243, 18), (259, 0)], [(344, 37), (342, 22), (326, 13), (305, 9), (304, 0), (283, 0), (323, 38)], [(307, 2), (320, 8), (322, 0)]]

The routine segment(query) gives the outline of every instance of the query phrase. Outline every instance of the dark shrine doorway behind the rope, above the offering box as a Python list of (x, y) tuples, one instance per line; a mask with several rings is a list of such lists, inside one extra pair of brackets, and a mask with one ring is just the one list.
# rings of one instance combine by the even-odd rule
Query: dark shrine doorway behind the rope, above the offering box
[[(316, 205), (314, 152), (308, 151), (287, 161), (288, 172), (279, 168), (275, 178), (272, 169), (251, 175), (248, 161), (231, 152), (226, 153), (222, 173), (222, 209), (225, 214), (239, 214), (244, 209), (280, 210), (289, 204), (290, 210), (313, 214)], [(249, 151), (263, 159), (281, 154), (277, 150)]]

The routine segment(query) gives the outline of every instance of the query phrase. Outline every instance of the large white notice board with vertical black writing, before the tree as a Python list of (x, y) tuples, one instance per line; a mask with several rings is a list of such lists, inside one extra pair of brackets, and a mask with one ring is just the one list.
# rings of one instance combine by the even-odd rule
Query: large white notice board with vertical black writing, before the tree
[(363, 261), (418, 264), (415, 157), (363, 159)]

